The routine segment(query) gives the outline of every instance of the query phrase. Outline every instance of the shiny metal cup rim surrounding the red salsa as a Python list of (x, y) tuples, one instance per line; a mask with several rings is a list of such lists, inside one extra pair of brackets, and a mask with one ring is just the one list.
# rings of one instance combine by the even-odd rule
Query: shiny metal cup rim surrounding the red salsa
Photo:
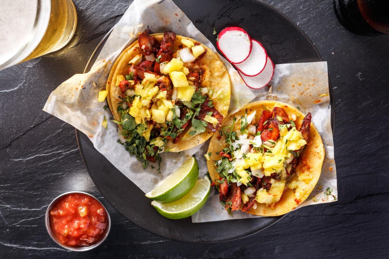
[[(67, 247), (67, 246), (61, 244), (60, 242), (58, 242), (56, 236), (54, 235), (53, 231), (50, 228), (50, 221), (49, 221), (50, 210), (51, 210), (51, 208), (53, 208), (53, 205), (58, 201), (58, 199), (60, 199), (61, 197), (65, 196), (65, 195), (68, 195), (70, 193), (82, 193), (82, 194), (91, 196), (92, 198), (97, 200), (103, 206), (103, 208), (105, 210), (105, 214), (107, 214), (107, 228), (105, 229), (105, 234), (104, 234), (103, 238), (99, 242), (97, 242), (93, 245), (90, 245), (88, 247)], [(57, 198), (55, 198), (49, 204), (49, 207), (47, 207), (46, 215), (45, 215), (45, 223), (46, 223), (47, 233), (49, 233), (49, 235), (54, 240), (54, 242), (56, 242), (58, 245), (60, 245), (61, 247), (65, 248), (67, 250), (76, 251), (76, 252), (88, 251), (88, 250), (94, 249), (95, 247), (98, 247), (101, 243), (104, 242), (105, 238), (107, 238), (107, 236), (109, 234), (109, 230), (111, 228), (111, 218), (109, 217), (109, 213), (108, 213), (107, 209), (104, 207), (103, 203), (101, 203), (95, 196), (90, 195), (89, 193), (84, 193), (83, 191), (69, 191), (69, 192), (63, 193), (60, 196), (58, 196)]]

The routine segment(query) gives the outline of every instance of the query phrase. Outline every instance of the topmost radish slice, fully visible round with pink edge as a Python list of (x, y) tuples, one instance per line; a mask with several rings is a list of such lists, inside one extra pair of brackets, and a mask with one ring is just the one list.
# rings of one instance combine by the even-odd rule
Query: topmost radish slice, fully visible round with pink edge
[(252, 42), (249, 34), (239, 27), (227, 27), (219, 33), (216, 45), (231, 63), (241, 63), (249, 57)]

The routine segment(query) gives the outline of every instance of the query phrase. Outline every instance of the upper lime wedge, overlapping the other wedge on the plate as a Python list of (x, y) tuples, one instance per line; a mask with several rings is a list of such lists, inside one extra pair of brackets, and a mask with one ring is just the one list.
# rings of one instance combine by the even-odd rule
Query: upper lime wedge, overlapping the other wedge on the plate
[(159, 203), (170, 203), (184, 197), (195, 186), (198, 164), (193, 156), (186, 160), (171, 175), (159, 182), (146, 197)]

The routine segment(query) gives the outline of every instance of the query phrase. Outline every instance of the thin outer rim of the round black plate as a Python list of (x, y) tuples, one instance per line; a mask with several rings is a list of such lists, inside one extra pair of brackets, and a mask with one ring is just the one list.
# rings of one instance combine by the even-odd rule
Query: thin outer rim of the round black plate
[[(296, 28), (296, 30), (300, 31), (303, 36), (309, 41), (310, 45), (312, 47), (314, 47), (313, 49), (315, 50), (315, 53), (317, 54), (317, 56), (321, 59), (321, 61), (323, 61), (320, 53), (318, 52), (318, 50), (316, 49), (316, 46), (314, 45), (314, 43), (310, 40), (310, 38), (305, 34), (305, 32), (296, 24), (294, 23), (294, 21), (292, 19), (290, 19), (288, 16), (286, 16), (286, 14), (282, 13), (280, 10), (276, 9), (275, 7), (273, 7), (272, 5), (269, 5), (268, 3), (264, 3), (260, 0), (254, 0), (253, 2), (260, 2), (261, 4), (265, 5), (266, 7), (272, 9), (274, 12), (278, 13), (279, 15), (283, 16), (288, 22), (289, 24), (291, 24), (294, 28)], [(107, 31), (107, 33), (104, 35), (104, 37), (100, 40), (100, 42), (98, 43), (98, 45), (96, 45), (96, 48), (95, 50), (92, 52), (91, 56), (89, 57), (88, 59), (88, 62), (86, 63), (86, 66), (85, 66), (85, 69), (83, 71), (83, 73), (87, 73), (90, 69), (91, 69), (91, 62), (96, 59), (96, 53), (100, 53), (101, 51), (101, 47), (102, 45), (105, 44), (105, 41), (107, 40), (107, 38), (109, 37), (110, 33), (112, 33), (112, 31), (114, 30), (115, 26), (113, 26), (109, 31)], [(97, 53), (97, 54), (98, 54)], [(335, 101), (334, 101), (334, 97), (333, 97), (333, 87), (332, 87), (332, 84), (331, 84), (331, 81), (330, 81), (330, 78), (328, 76), (328, 83), (329, 83), (329, 97), (330, 97), (330, 105), (331, 105), (331, 118), (330, 118), (330, 121), (331, 121), (331, 130), (332, 130), (332, 133), (334, 134), (334, 129), (335, 129)], [(75, 135), (76, 135), (76, 139), (77, 139), (77, 145), (79, 146), (79, 151), (80, 151), (80, 155), (81, 155), (81, 158), (82, 158), (82, 162), (84, 163), (84, 166), (89, 174), (89, 176), (91, 177), (93, 183), (95, 184), (96, 188), (98, 189), (98, 191), (100, 191), (100, 193), (104, 196), (105, 200), (107, 200), (108, 203), (110, 203), (110, 205), (117, 211), (119, 212), (119, 214), (121, 214), (123, 217), (125, 217), (126, 219), (128, 219), (128, 217), (126, 217), (122, 212), (120, 212), (120, 210), (118, 210), (116, 208), (116, 206), (114, 206), (110, 201), (109, 198), (106, 197), (106, 195), (104, 195), (104, 193), (102, 192), (101, 188), (96, 184), (95, 180), (94, 180), (94, 177), (92, 176), (91, 174), (91, 170), (89, 170), (89, 167), (86, 163), (86, 160), (84, 158), (84, 154), (82, 153), (81, 151), (81, 134), (83, 134), (81, 131), (79, 131), (78, 129), (75, 129)], [(86, 136), (86, 135), (85, 135)], [(108, 161), (108, 160), (107, 160)], [(109, 161), (108, 161), (109, 162)], [(110, 163), (110, 162), (109, 162)], [(130, 179), (129, 179), (130, 180)], [(131, 180), (130, 180), (131, 181)], [(132, 181), (131, 181), (132, 182)], [(287, 213), (289, 214), (289, 212)], [(157, 233), (154, 233), (152, 231), (149, 231), (147, 229), (145, 229), (144, 227), (142, 226), (139, 226), (136, 222), (133, 222), (131, 221), (131, 219), (128, 219), (129, 221), (131, 221), (133, 224), (137, 225), (138, 227), (148, 231), (148, 232), (151, 232), (153, 233), (154, 235), (158, 235), (158, 236), (161, 236), (163, 238), (167, 238), (167, 239), (170, 239), (170, 240), (176, 240), (176, 241), (179, 241), (179, 242), (184, 242), (184, 243), (223, 243), (223, 242), (229, 242), (229, 241), (234, 241), (234, 240), (238, 240), (238, 239), (241, 239), (241, 238), (245, 238), (247, 236), (252, 236), (260, 231), (263, 231), (267, 228), (269, 228), (270, 226), (272, 226), (273, 224), (279, 222), (282, 218), (284, 218), (287, 214), (284, 214), (284, 215), (281, 215), (281, 216), (277, 216), (278, 219), (276, 219), (274, 222), (268, 224), (267, 226), (265, 226), (264, 228), (262, 229), (259, 229), (259, 230), (256, 230), (256, 231), (253, 231), (252, 233), (249, 233), (249, 234), (244, 234), (242, 236), (237, 236), (235, 238), (229, 238), (228, 240), (218, 240), (218, 241), (187, 241), (187, 240), (179, 240), (179, 239), (176, 239), (176, 238), (171, 238), (171, 237), (167, 237), (167, 236), (163, 236), (163, 235), (160, 235), (160, 234), (157, 234)], [(226, 220), (227, 221), (227, 220)], [(218, 221), (211, 221), (211, 222), (218, 222)], [(192, 223), (192, 224), (209, 224), (210, 222), (199, 222), (199, 223)]]

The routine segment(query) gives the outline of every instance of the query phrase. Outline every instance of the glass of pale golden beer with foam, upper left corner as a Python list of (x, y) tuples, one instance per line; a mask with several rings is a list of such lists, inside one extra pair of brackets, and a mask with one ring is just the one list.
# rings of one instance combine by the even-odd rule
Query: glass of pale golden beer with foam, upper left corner
[(72, 0), (1, 0), (0, 70), (61, 49), (76, 26)]

